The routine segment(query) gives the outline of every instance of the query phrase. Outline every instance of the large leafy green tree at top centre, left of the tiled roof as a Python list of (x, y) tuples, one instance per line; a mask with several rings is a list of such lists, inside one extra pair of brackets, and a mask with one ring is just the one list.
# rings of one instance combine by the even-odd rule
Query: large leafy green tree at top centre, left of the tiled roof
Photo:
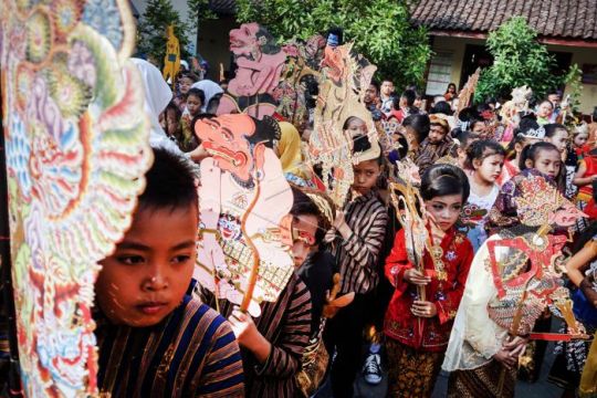
[(431, 55), (427, 31), (410, 25), (404, 0), (238, 0), (237, 20), (259, 22), (280, 41), (341, 27), (344, 40), (398, 87), (422, 85)]

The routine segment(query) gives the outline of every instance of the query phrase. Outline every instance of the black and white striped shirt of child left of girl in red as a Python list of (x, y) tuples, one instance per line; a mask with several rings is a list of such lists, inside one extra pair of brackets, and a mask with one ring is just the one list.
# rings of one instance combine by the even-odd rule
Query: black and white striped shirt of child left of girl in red
[(379, 281), (378, 256), (388, 223), (388, 213), (377, 192), (370, 191), (346, 205), (345, 220), (353, 233), (337, 238), (336, 259), (342, 276), (341, 293), (370, 292)]

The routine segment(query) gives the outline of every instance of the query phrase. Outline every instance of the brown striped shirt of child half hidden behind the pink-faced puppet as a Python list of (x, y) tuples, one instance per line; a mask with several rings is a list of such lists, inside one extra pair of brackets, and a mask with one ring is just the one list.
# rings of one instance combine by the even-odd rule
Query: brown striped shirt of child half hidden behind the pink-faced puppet
[[(198, 293), (206, 304), (216, 307), (211, 292), (199, 287)], [(226, 300), (218, 304), (228, 318), (234, 305)], [(258, 364), (251, 352), (241, 347), (247, 397), (294, 397), (295, 377), (311, 334), (311, 294), (304, 282), (293, 273), (276, 302), (261, 303), (261, 315), (253, 322), (272, 350), (264, 364)]]

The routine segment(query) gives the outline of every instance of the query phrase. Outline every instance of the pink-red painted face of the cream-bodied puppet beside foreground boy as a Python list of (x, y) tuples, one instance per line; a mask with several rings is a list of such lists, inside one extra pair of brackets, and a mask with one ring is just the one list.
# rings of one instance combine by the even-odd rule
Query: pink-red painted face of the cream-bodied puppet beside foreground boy
[(247, 114), (222, 115), (198, 121), (195, 134), (218, 166), (243, 181), (251, 178), (253, 153), (247, 137), (255, 133), (255, 124)]

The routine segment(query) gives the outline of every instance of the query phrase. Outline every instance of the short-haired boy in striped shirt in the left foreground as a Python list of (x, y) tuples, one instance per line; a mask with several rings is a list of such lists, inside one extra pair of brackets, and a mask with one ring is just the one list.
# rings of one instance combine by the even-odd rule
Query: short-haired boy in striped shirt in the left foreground
[(113, 397), (242, 397), (230, 325), (188, 294), (198, 197), (191, 168), (155, 149), (130, 229), (95, 283), (98, 388)]

